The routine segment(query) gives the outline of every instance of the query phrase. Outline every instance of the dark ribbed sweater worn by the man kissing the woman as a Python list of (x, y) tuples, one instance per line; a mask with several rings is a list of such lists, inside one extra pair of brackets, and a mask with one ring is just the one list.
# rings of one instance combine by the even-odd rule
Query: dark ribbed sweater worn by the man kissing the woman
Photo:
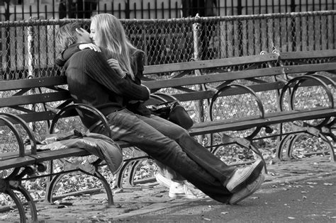
[[(108, 115), (125, 108), (125, 98), (146, 101), (150, 97), (144, 86), (121, 79), (108, 66), (101, 52), (77, 50), (78, 45), (69, 46), (62, 54), (69, 91), (75, 103), (92, 105)], [(60, 61), (57, 63), (62, 65)], [(93, 120), (83, 121), (86, 127), (93, 124)]]

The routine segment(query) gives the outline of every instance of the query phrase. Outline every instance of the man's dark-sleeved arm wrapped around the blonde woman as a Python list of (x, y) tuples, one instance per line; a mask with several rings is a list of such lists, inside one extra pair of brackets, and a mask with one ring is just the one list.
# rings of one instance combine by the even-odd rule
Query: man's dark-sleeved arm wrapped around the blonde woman
[(86, 72), (109, 90), (131, 100), (146, 101), (150, 98), (150, 91), (145, 86), (133, 84), (132, 81), (122, 79), (116, 71), (111, 69), (100, 52), (82, 50), (86, 62)]

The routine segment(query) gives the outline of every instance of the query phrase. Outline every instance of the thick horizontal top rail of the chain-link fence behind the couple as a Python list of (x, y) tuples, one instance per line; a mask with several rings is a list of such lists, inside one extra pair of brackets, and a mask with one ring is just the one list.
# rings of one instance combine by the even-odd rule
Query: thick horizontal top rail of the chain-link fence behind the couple
[[(128, 25), (136, 24), (164, 24), (164, 23), (204, 23), (209, 21), (245, 21), (251, 19), (272, 19), (272, 18), (296, 18), (305, 16), (335, 16), (336, 10), (330, 11), (308, 11), (308, 12), (292, 12), (292, 13), (269, 13), (269, 14), (257, 14), (257, 15), (240, 15), (240, 16), (213, 16), (213, 17), (193, 17), (193, 18), (162, 18), (162, 19), (121, 19), (122, 23)], [(90, 19), (29, 19), (26, 21), (4, 21), (0, 22), (0, 28), (17, 27), (17, 26), (34, 26), (34, 25), (60, 25), (65, 23), (72, 23), (74, 21), (82, 21), (83, 23), (90, 23)]]

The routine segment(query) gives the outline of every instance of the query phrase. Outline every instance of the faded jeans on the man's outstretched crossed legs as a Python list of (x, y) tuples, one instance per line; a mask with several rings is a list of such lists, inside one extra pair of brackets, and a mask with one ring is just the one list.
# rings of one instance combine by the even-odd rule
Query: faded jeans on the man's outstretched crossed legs
[(235, 167), (224, 164), (182, 127), (155, 115), (147, 118), (127, 109), (107, 118), (113, 140), (135, 145), (214, 200), (227, 203), (231, 198), (232, 193), (225, 185)]

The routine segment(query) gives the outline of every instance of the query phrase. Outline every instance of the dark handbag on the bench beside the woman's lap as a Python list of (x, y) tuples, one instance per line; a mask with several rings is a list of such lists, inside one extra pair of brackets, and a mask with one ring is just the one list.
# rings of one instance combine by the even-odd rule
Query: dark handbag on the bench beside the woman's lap
[[(164, 103), (152, 105), (150, 107), (153, 115), (169, 120), (186, 130), (194, 125), (194, 121), (190, 118), (186, 109), (184, 109), (184, 107), (179, 103), (177, 98), (163, 93), (155, 93), (152, 94), (151, 97), (158, 99), (159, 101), (164, 101)], [(169, 99), (172, 101), (168, 101)]]

